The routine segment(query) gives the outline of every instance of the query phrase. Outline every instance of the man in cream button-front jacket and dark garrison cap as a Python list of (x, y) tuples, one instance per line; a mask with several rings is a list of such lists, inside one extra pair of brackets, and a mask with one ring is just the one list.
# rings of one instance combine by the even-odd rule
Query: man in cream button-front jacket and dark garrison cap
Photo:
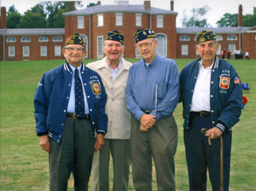
[(128, 188), (131, 165), (131, 113), (126, 108), (125, 89), (131, 62), (121, 58), (125, 51), (124, 35), (108, 32), (104, 41), (104, 57), (86, 67), (98, 72), (108, 95), (105, 113), (108, 115), (108, 133), (105, 145), (95, 153), (92, 164), (93, 190), (109, 190), (109, 158), (113, 158), (113, 191)]

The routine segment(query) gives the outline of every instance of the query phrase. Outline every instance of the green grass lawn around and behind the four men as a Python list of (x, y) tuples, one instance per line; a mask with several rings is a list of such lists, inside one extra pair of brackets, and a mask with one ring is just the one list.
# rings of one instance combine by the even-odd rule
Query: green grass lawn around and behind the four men
[[(190, 61), (177, 59), (179, 72)], [(0, 190), (49, 190), (48, 154), (38, 144), (32, 101), (43, 73), (62, 63), (63, 60), (1, 62)], [(244, 93), (248, 104), (241, 114), (241, 121), (233, 128), (230, 190), (251, 191), (256, 190), (256, 60), (231, 60), (230, 63), (236, 68), (241, 82), (252, 86)], [(189, 190), (181, 104), (177, 105), (174, 115), (179, 133), (175, 155), (177, 190)], [(68, 190), (73, 190), (72, 177), (69, 184)], [(91, 185), (90, 181), (89, 190), (92, 190)], [(157, 190), (155, 175), (153, 185)], [(209, 185), (208, 182), (208, 190), (211, 190)], [(129, 190), (134, 190), (131, 178)]]

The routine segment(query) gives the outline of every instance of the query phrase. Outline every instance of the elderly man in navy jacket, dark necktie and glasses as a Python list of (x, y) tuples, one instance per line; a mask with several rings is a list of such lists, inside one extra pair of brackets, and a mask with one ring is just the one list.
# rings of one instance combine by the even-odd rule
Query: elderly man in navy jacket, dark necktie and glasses
[[(39, 144), (49, 153), (49, 190), (88, 190), (94, 150), (107, 132), (107, 95), (98, 73), (82, 63), (84, 39), (75, 33), (62, 49), (64, 65), (45, 72), (34, 95)], [(96, 131), (96, 138), (94, 136)]]

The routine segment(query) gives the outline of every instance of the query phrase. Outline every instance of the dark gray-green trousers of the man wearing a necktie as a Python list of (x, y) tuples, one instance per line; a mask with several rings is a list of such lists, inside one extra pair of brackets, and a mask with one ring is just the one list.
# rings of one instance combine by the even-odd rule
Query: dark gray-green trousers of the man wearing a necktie
[(74, 190), (88, 190), (94, 142), (90, 120), (66, 119), (61, 143), (50, 141), (50, 191), (67, 190), (71, 172), (73, 172)]

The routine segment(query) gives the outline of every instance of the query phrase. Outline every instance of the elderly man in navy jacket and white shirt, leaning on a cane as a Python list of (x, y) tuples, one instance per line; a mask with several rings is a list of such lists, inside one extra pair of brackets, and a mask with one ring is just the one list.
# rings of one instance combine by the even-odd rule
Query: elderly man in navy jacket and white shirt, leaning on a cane
[[(196, 49), (201, 58), (180, 73), (189, 190), (207, 190), (207, 169), (212, 190), (220, 189), (220, 136), (224, 142), (224, 190), (229, 190), (231, 132), (241, 115), (241, 82), (235, 68), (218, 59), (214, 32), (197, 33)], [(203, 128), (206, 134), (201, 133)]]

